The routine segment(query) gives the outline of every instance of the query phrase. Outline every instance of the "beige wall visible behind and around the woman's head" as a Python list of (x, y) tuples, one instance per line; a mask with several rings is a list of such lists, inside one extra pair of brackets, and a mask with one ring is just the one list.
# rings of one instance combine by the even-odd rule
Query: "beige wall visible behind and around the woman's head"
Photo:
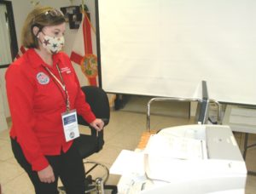
[[(21, 28), (23, 26), (24, 21), (26, 20), (26, 15), (33, 9), (32, 3), (30, 0), (10, 0), (13, 5), (14, 17), (15, 17), (15, 30), (18, 39), (18, 46), (20, 48), (20, 33)], [(70, 6), (71, 3), (69, 0), (36, 0), (39, 1), (41, 5), (51, 6), (54, 8), (61, 8)], [(82, 3), (81, 0), (73, 0), (73, 5), (80, 5)], [(88, 9), (90, 10), (90, 19), (92, 25), (95, 26), (95, 1), (94, 0), (86, 0)], [(65, 52), (70, 54), (73, 48), (74, 38), (76, 37), (78, 30), (70, 30), (67, 24), (65, 39), (66, 39), (66, 47)], [(6, 89), (5, 89), (5, 81), (4, 81), (4, 73), (6, 69), (0, 69), (0, 131), (7, 128), (5, 117), (9, 117), (9, 106), (6, 97)], [(83, 79), (82, 74), (79, 74), (79, 79)]]

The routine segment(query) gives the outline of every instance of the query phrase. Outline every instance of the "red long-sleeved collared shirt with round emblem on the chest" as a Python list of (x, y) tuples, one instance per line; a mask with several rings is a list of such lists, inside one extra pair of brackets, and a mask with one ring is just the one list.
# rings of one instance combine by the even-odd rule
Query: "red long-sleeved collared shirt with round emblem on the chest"
[(33, 170), (46, 168), (46, 156), (66, 152), (73, 141), (66, 142), (61, 113), (66, 111), (65, 92), (45, 66), (61, 80), (56, 65), (67, 87), (71, 110), (91, 123), (96, 117), (85, 102), (78, 77), (67, 54), (53, 55), (53, 66), (48, 66), (34, 49), (9, 66), (5, 78), (12, 117), (10, 136), (16, 138)]

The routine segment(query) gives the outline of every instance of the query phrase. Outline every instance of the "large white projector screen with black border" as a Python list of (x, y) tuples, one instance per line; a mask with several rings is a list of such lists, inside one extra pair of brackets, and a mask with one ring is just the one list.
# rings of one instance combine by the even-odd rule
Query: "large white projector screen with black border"
[(256, 105), (255, 0), (97, 0), (102, 88)]

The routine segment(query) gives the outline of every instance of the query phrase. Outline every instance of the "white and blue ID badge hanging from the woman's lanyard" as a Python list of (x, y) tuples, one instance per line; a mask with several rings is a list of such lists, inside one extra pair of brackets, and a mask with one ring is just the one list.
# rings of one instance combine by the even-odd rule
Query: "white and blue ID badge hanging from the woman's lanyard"
[(61, 117), (66, 141), (78, 138), (80, 134), (77, 111), (64, 112), (61, 114)]

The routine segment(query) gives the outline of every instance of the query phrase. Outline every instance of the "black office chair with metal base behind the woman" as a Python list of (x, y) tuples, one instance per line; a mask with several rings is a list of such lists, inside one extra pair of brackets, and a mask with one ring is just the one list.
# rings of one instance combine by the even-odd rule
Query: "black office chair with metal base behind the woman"
[[(104, 127), (106, 127), (109, 123), (110, 118), (110, 109), (109, 109), (109, 102), (108, 96), (102, 88), (98, 88), (96, 86), (84, 86), (82, 90), (85, 94), (85, 99), (90, 105), (91, 110), (94, 112), (97, 118), (102, 118), (104, 122)], [(74, 140), (74, 144), (79, 148), (79, 153), (81, 157), (84, 159), (86, 157), (90, 157), (90, 155), (101, 151), (104, 145), (103, 139), (103, 131), (96, 132), (95, 128), (90, 127), (89, 123), (86, 123), (83, 117), (78, 115), (78, 122), (79, 125), (88, 126), (90, 128), (91, 134), (80, 134), (79, 138)], [(90, 169), (85, 168), (85, 180), (84, 184), (86, 185), (85, 193), (90, 193), (90, 191), (96, 191), (96, 181), (92, 180), (91, 176), (89, 175), (90, 172), (100, 166), (101, 168), (105, 169), (106, 174), (102, 176), (102, 182), (104, 189), (112, 190), (112, 193), (117, 193), (117, 186), (116, 185), (106, 185), (106, 181), (108, 180), (109, 171), (108, 168), (103, 165), (102, 163), (96, 162), (84, 162), (85, 164), (92, 164)], [(65, 190), (64, 187), (60, 187), (61, 192)]]

